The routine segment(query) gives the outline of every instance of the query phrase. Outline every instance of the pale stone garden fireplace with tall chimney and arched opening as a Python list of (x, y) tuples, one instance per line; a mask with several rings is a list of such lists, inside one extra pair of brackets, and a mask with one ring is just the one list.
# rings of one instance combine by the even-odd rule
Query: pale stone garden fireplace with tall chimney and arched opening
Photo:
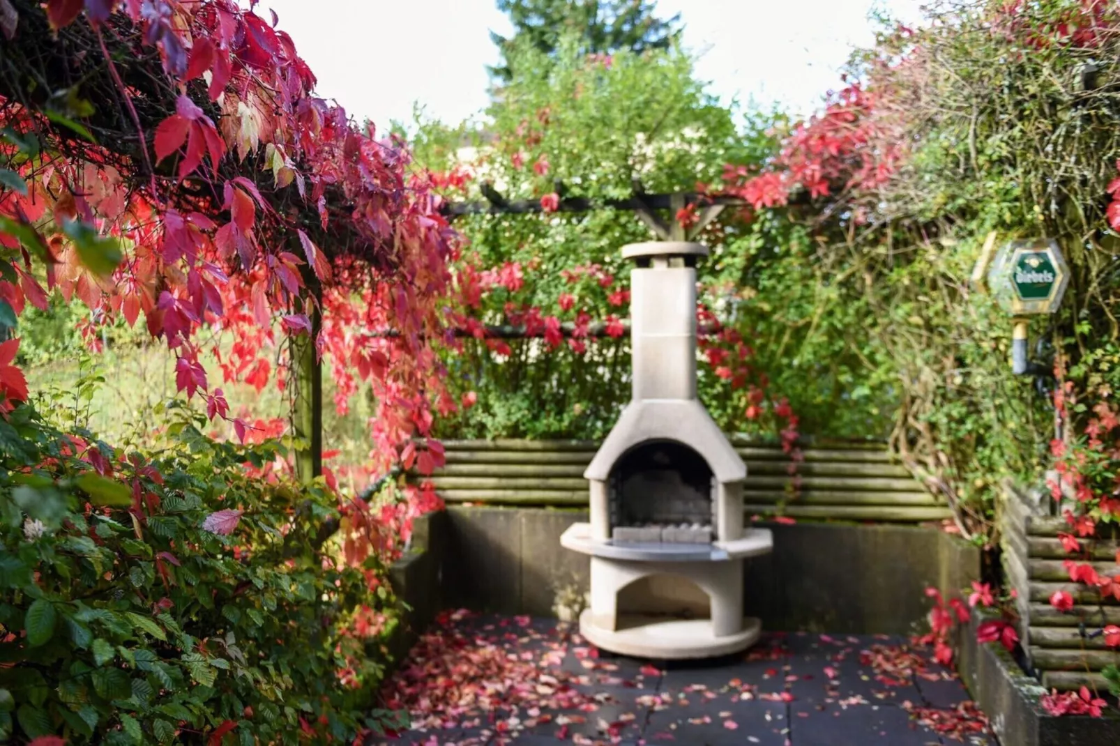
[(561, 543), (591, 557), (580, 632), (617, 653), (704, 658), (743, 650), (743, 560), (771, 551), (743, 526), (747, 469), (697, 399), (697, 243), (631, 244), (633, 395), (584, 473), (590, 522)]

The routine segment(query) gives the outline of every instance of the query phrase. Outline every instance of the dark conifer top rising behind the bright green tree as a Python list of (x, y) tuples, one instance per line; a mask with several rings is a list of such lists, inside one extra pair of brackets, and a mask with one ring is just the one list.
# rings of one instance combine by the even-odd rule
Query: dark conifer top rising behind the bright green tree
[(498, 0), (497, 7), (514, 27), (512, 37), (491, 31), (503, 57), (491, 75), (502, 83), (513, 80), (516, 45), (553, 56), (560, 39), (573, 35), (584, 54), (613, 54), (668, 49), (680, 36), (680, 13), (657, 18), (645, 0)]

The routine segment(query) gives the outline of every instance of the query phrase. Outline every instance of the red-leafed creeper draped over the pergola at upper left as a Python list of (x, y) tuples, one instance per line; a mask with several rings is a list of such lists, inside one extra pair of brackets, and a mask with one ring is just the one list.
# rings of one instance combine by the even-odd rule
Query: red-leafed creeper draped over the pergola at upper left
[[(290, 37), (234, 0), (8, 4), (0, 168), (24, 188), (0, 194), (18, 278), (0, 297), (19, 313), (58, 291), (102, 323), (143, 318), (211, 418), (227, 407), (200, 327), (234, 332), (223, 377), (260, 388), (278, 333), (309, 334), (321, 313), (340, 388), (373, 385), (375, 451), (426, 436), (456, 237), (407, 150), (317, 97)], [(361, 334), (380, 328), (401, 334)], [(26, 398), (16, 372), (7, 399)]]

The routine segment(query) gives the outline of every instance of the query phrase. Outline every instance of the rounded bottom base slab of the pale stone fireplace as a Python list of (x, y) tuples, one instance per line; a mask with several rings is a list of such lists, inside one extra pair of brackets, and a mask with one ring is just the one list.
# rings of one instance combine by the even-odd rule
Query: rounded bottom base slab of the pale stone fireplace
[(754, 645), (762, 622), (744, 617), (735, 634), (716, 636), (711, 619), (672, 619), (664, 616), (624, 614), (617, 630), (597, 626), (591, 609), (579, 617), (579, 633), (596, 647), (622, 655), (654, 660), (716, 658), (738, 653)]

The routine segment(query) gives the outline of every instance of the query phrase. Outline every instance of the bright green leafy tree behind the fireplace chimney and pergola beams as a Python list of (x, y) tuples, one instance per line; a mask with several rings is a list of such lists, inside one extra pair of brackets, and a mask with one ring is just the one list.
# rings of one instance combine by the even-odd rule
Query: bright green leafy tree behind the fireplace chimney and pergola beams
[[(413, 146), (418, 161), (452, 199), (498, 192), (544, 206), (541, 214), (456, 222), (468, 240), (457, 267), (464, 295), (456, 320), (544, 324), (545, 337), (457, 343), (446, 357), (448, 384), (467, 405), (438, 427), (456, 437), (597, 437), (629, 398), (629, 347), (620, 326), (629, 265), (618, 250), (648, 240), (648, 230), (627, 211), (550, 211), (563, 198), (595, 204), (629, 197), (636, 183), (651, 193), (692, 190), (717, 181), (727, 162), (759, 167), (774, 152), (772, 130), (782, 118), (753, 112), (744, 124), (734, 106), (707, 93), (691, 58), (675, 48), (623, 50), (607, 59), (587, 55), (569, 35), (552, 55), (519, 49), (514, 71), (484, 122), (426, 122)], [(704, 301), (720, 323), (731, 321), (745, 299), (747, 268), (767, 255), (752, 253), (748, 244), (771, 243), (759, 237), (771, 229), (773, 243), (781, 245), (778, 222), (750, 226), (728, 211), (702, 236), (712, 250), (700, 269)], [(575, 337), (562, 337), (563, 323)], [(603, 325), (603, 336), (584, 335), (592, 323)], [(768, 330), (780, 337), (785, 328)], [(773, 408), (755, 401), (750, 411), (759, 419), (745, 420), (747, 399), (767, 386), (760, 370), (746, 370), (754, 360), (744, 344), (747, 335), (730, 332), (706, 349), (709, 364), (700, 372), (706, 403), (729, 429), (786, 427), (788, 405), (780, 399)], [(827, 376), (825, 367), (821, 380)], [(773, 417), (778, 411), (781, 421)]]

